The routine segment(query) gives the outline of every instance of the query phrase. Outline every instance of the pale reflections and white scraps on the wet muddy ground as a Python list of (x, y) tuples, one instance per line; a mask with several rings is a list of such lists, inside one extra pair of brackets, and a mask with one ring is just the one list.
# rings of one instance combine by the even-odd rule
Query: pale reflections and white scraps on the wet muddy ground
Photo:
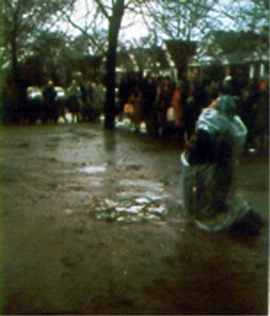
[[(101, 190), (102, 177), (107, 171), (106, 164), (84, 166), (79, 171), (90, 175), (88, 179), (91, 186), (99, 186)], [(165, 192), (163, 183), (149, 179), (123, 178), (115, 186), (118, 187), (115, 200), (99, 199), (91, 203), (91, 212), (97, 218), (118, 223), (137, 223), (142, 220), (163, 220), (167, 215), (165, 201), (170, 195)]]

